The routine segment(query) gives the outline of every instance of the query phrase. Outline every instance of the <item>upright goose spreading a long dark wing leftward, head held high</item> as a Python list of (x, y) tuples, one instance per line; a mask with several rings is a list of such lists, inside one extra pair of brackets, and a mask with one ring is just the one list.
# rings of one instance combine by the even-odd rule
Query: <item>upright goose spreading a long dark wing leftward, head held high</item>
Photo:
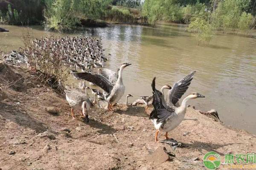
[(121, 99), (121, 97), (125, 93), (125, 86), (122, 82), (122, 72), (125, 67), (131, 65), (129, 63), (123, 63), (120, 67), (120, 71), (118, 73), (118, 79), (115, 83), (110, 82), (101, 74), (94, 74), (94, 73), (76, 73), (74, 74), (75, 77), (79, 79), (87, 80), (88, 82), (93, 82), (94, 84), (98, 85), (102, 88), (105, 92), (103, 93), (104, 99), (108, 102), (108, 111), (113, 111), (112, 105)]

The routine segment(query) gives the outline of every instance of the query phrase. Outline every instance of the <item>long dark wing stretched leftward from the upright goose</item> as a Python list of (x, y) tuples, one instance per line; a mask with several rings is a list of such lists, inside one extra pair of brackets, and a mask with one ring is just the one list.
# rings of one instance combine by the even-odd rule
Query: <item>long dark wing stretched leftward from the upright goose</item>
[(108, 79), (106, 79), (101, 74), (84, 72), (84, 73), (74, 73), (73, 75), (79, 79), (84, 79), (88, 82), (92, 82), (93, 84), (102, 88), (107, 93), (110, 93), (114, 86), (113, 83), (111, 83)]

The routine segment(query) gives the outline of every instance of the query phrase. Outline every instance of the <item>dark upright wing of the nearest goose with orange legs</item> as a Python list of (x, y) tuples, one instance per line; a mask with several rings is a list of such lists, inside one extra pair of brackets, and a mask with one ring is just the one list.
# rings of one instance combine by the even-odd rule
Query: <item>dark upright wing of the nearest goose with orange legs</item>
[(151, 84), (152, 90), (153, 90), (153, 106), (154, 109), (150, 113), (149, 119), (157, 119), (157, 122), (163, 122), (168, 118), (169, 116), (172, 116), (174, 114), (173, 108), (166, 108), (166, 106), (163, 104), (165, 101), (163, 101), (163, 94), (158, 91), (155, 88), (155, 77)]

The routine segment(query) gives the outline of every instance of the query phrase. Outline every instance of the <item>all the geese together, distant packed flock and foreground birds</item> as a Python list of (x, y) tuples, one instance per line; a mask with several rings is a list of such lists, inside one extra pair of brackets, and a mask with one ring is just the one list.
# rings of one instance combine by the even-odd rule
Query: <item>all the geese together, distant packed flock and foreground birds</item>
[[(5, 30), (0, 29), (0, 31)], [(79, 82), (79, 88), (66, 87), (64, 90), (67, 102), (71, 107), (73, 119), (75, 119), (74, 110), (79, 110), (84, 121), (89, 122), (88, 112), (92, 106), (113, 111), (114, 105), (125, 94), (122, 73), (131, 64), (123, 63), (116, 71), (103, 68), (108, 58), (103, 54), (104, 50), (100, 40), (93, 37), (58, 37), (57, 39), (46, 37), (44, 39), (41, 38), (41, 40), (36, 39), (33, 42), (35, 49), (38, 51), (46, 48), (51, 49), (51, 51), (59, 51), (64, 60), (64, 65), (75, 68), (75, 70), (70, 71), (70, 74), (73, 75), (74, 79), (82, 80)], [(35, 52), (32, 55), (38, 54), (39, 52)], [(52, 58), (54, 57), (53, 54), (54, 52), (51, 55)], [(23, 51), (22, 54), (12, 51), (8, 55), (2, 54), (2, 57), (7, 62), (18, 64), (28, 63), (27, 55), (29, 55), (29, 51)], [(108, 55), (111, 56), (111, 54)], [(81, 68), (81, 72), (78, 72), (77, 68)], [(94, 73), (92, 68), (99, 68), (98, 73)], [(157, 135), (159, 132), (165, 132), (166, 139), (169, 139), (168, 132), (183, 121), (187, 102), (190, 99), (204, 97), (199, 93), (191, 93), (179, 104), (179, 100), (189, 88), (194, 74), (195, 71), (191, 72), (183, 79), (175, 82), (172, 87), (168, 84), (163, 85), (160, 91), (155, 88), (156, 77), (154, 77), (151, 84), (153, 95), (141, 96), (141, 99), (131, 103), (132, 106), (145, 105), (145, 113), (148, 106), (153, 105), (154, 108), (150, 113), (149, 119), (151, 119), (156, 129), (155, 142), (158, 141)], [(86, 86), (85, 81), (89, 82), (90, 85), (99, 86), (103, 92)], [(93, 94), (93, 98), (88, 95), (88, 89)], [(168, 90), (166, 96), (164, 95), (164, 89)], [(129, 104), (128, 97), (130, 96), (132, 95), (128, 94), (126, 96), (126, 105)]]

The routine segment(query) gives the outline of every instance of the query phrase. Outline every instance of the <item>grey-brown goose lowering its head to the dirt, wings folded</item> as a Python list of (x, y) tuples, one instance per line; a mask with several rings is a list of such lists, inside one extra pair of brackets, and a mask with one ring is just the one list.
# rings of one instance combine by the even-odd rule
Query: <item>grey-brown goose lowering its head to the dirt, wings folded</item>
[(75, 119), (74, 109), (81, 111), (81, 116), (84, 116), (85, 122), (89, 122), (88, 111), (90, 110), (91, 100), (88, 96), (77, 91), (66, 87), (64, 90), (66, 94), (66, 99), (71, 107), (71, 114), (73, 119)]

